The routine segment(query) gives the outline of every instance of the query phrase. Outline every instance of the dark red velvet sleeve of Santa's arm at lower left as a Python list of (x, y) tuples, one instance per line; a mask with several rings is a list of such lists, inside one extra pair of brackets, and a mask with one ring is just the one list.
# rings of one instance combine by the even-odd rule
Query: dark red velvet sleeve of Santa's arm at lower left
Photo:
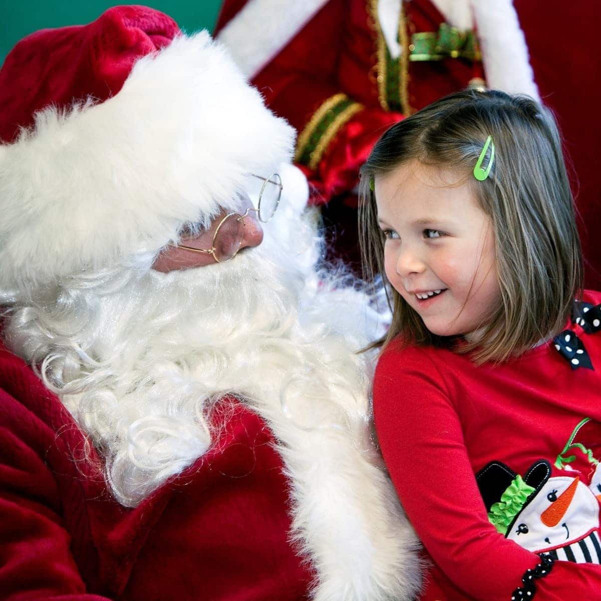
[(53, 435), (0, 390), (0, 591), (4, 601), (106, 601), (87, 594), (70, 551), (57, 483), (44, 457)]

